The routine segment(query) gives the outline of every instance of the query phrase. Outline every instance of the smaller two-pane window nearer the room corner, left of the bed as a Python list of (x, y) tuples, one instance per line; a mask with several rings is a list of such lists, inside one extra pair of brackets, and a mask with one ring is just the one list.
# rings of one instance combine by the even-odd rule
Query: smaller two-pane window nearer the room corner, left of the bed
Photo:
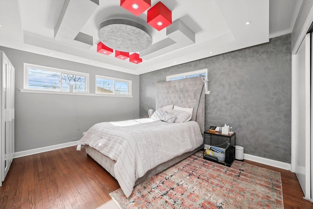
[(132, 81), (96, 75), (96, 93), (132, 95)]

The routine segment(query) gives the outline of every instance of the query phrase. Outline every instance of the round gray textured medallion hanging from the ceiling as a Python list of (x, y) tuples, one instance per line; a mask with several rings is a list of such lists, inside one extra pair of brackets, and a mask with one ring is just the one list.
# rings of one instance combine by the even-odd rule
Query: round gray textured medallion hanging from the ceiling
[(112, 19), (101, 23), (98, 37), (104, 45), (118, 51), (138, 52), (152, 45), (148, 29), (130, 20)]

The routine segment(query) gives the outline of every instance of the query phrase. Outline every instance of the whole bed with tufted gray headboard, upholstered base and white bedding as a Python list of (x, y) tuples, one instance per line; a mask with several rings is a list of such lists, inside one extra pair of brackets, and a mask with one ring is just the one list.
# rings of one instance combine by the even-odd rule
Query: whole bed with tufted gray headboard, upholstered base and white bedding
[[(201, 77), (157, 83), (154, 119), (95, 124), (78, 142), (77, 149), (86, 145), (86, 153), (118, 181), (129, 197), (135, 185), (203, 147), (203, 89)], [(191, 120), (156, 120), (156, 113), (164, 111), (167, 116), (175, 116), (175, 110), (168, 109), (171, 105), (193, 108)]]

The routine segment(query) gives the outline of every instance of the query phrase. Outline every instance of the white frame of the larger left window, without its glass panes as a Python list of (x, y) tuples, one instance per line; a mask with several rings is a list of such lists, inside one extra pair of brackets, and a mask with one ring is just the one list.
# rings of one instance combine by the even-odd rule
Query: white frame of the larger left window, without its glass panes
[[(47, 70), (47, 71), (52, 71), (52, 72), (59, 72), (60, 73), (60, 89), (58, 90), (53, 90), (53, 89), (31, 89), (28, 88), (29, 86), (29, 79), (28, 79), (28, 69), (29, 68), (34, 68), (38, 70)], [(72, 75), (79, 75), (79, 76), (84, 76), (85, 77), (85, 91), (74, 91), (69, 92), (69, 91), (62, 91), (62, 74), (72, 74)], [(45, 66), (40, 66), (40, 65), (34, 65), (34, 64), (28, 64), (24, 63), (24, 84), (23, 84), (23, 90), (27, 91), (40, 91), (40, 92), (50, 92), (50, 93), (89, 93), (89, 73), (86, 72), (79, 72), (79, 71), (72, 71), (72, 70), (64, 70), (64, 69), (57, 69), (57, 68), (50, 68), (50, 67), (45, 67)]]

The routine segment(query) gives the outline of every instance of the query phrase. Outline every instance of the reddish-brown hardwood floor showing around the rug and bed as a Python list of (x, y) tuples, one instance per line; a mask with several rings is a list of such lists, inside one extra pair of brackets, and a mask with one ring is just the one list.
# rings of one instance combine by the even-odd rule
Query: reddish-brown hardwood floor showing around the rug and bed
[[(304, 200), (294, 173), (245, 161), (281, 172), (286, 209), (312, 209)], [(111, 200), (117, 181), (76, 147), (14, 159), (0, 187), (1, 209), (95, 209)]]

